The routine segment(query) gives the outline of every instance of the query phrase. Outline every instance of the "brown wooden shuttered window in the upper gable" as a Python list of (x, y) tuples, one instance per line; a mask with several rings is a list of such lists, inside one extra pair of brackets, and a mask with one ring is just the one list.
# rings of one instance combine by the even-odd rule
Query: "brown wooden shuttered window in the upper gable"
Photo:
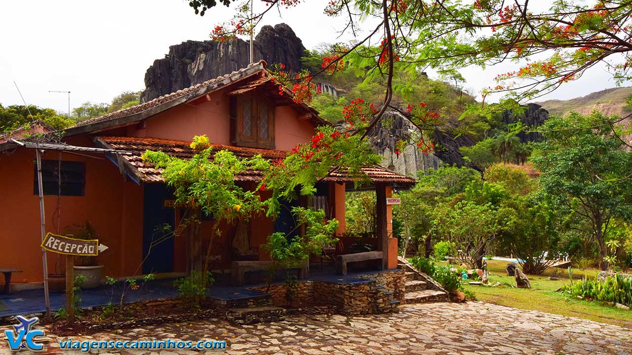
[(231, 136), (234, 145), (274, 149), (274, 105), (262, 97), (233, 99)]

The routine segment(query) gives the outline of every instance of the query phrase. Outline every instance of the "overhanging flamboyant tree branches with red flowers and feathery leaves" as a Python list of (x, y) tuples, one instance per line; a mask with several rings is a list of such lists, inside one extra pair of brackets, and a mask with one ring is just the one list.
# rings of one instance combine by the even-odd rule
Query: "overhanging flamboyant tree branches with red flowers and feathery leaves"
[[(263, 9), (257, 12), (251, 2), (235, 6), (234, 18), (217, 24), (212, 38), (224, 41), (246, 35), (271, 9), (283, 13), (301, 6), (300, 0), (262, 1), (265, 7), (254, 5)], [(230, 0), (219, 3), (231, 6)], [(199, 15), (217, 4), (216, 0), (189, 1)], [(353, 33), (355, 40), (332, 46), (320, 72), (332, 73), (350, 64), (362, 68), (358, 75), (365, 79), (384, 78), (384, 99), (375, 102), (375, 111), (367, 112), (365, 124), (356, 127), (363, 136), (393, 108), (392, 79), (402, 71), (414, 78), (424, 68), (434, 68), (445, 77), (458, 78), (458, 69), (467, 66), (518, 62), (516, 70), (498, 73), (497, 85), (483, 90), (483, 101), (490, 92), (505, 92), (518, 102), (533, 99), (580, 78), (598, 63), (606, 63), (616, 80), (631, 78), (629, 0), (331, 0), (323, 3), (323, 11), (344, 16), (346, 26), (341, 31)], [(316, 90), (310, 88), (315, 74), (319, 73), (286, 75), (298, 100), (309, 99), (307, 92)], [(406, 117), (422, 134), (405, 137), (400, 146), (410, 143), (432, 150), (432, 141), (423, 132), (444, 117), (410, 104)]]

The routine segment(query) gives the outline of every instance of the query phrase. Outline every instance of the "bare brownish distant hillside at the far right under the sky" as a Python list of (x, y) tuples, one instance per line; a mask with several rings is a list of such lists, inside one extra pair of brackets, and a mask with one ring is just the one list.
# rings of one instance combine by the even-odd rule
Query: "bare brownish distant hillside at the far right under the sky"
[(563, 115), (570, 111), (588, 114), (597, 108), (607, 115), (621, 115), (624, 111), (626, 98), (630, 95), (632, 95), (632, 87), (608, 88), (583, 97), (576, 97), (575, 99), (547, 100), (537, 102), (537, 104), (549, 111), (550, 114)]

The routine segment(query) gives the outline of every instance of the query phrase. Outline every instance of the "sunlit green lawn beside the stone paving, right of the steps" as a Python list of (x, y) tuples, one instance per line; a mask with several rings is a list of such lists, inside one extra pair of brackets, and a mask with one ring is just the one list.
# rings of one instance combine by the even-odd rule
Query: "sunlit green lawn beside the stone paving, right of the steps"
[[(594, 320), (595, 322), (611, 323), (621, 327), (632, 328), (632, 310), (621, 310), (606, 303), (597, 301), (582, 301), (556, 292), (562, 285), (569, 283), (566, 269), (552, 268), (543, 275), (527, 275), (532, 289), (518, 289), (513, 277), (507, 276), (505, 267), (507, 262), (489, 260), (489, 284), (500, 282), (501, 286), (474, 286), (467, 283), (464, 287), (475, 292), (478, 300), (521, 308), (523, 310), (537, 310), (557, 315), (574, 316)], [(550, 275), (561, 280), (549, 280)], [(581, 279), (584, 275), (595, 277), (599, 270), (573, 270), (573, 278)]]

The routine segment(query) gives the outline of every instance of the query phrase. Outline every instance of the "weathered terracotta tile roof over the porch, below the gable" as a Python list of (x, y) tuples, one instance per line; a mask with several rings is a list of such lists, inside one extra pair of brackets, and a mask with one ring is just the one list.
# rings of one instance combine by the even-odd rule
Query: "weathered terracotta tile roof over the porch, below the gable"
[[(131, 155), (121, 155), (123, 163), (126, 165), (131, 174), (142, 181), (143, 183), (160, 183), (162, 182), (162, 176), (159, 169), (149, 164), (145, 164), (141, 159), (141, 155), (146, 150), (159, 150), (165, 152), (174, 157), (188, 159), (193, 157), (195, 152), (191, 149), (190, 142), (179, 140), (165, 140), (159, 138), (139, 138), (139, 137), (113, 137), (113, 136), (101, 136), (97, 138), (97, 143), (105, 148), (112, 148), (116, 150), (123, 150), (132, 152)], [(269, 150), (269, 149), (256, 149), (245, 147), (234, 147), (231, 145), (213, 144), (211, 143), (214, 151), (230, 150), (238, 157), (253, 157), (260, 154), (266, 159), (276, 159), (286, 157), (288, 152), (283, 150)], [(394, 184), (398, 186), (411, 186), (416, 183), (415, 179), (408, 178), (397, 174), (394, 171), (386, 169), (385, 167), (374, 165), (371, 167), (363, 168), (365, 174), (372, 183), (385, 183)], [(260, 181), (262, 174), (257, 171), (245, 171), (238, 176), (238, 181)], [(354, 179), (349, 177), (346, 172), (341, 169), (329, 174), (323, 181), (333, 181), (337, 183), (353, 183)]]

